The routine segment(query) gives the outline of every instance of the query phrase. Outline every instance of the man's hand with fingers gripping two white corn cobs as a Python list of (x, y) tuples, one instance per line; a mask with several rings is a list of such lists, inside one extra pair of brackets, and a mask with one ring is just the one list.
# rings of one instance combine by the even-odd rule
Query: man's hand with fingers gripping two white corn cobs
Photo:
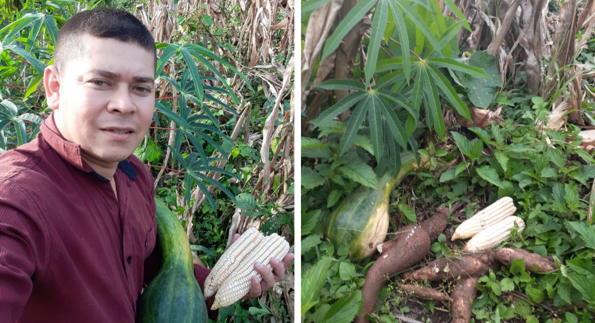
[[(240, 235), (236, 234), (231, 239), (231, 243), (233, 244), (236, 242), (237, 238)], [(252, 276), (250, 278), (250, 291), (246, 296), (242, 297), (242, 299), (253, 299), (255, 297), (260, 297), (263, 291), (270, 290), (275, 285), (275, 282), (283, 280), (285, 277), (285, 270), (291, 265), (293, 258), (295, 257), (294, 253), (288, 253), (284, 258), (283, 261), (279, 261), (275, 257), (271, 257), (269, 260), (271, 267), (273, 270), (271, 271), (268, 269), (266, 265), (262, 263), (255, 262), (254, 263), (254, 270), (261, 275), (262, 281), (259, 282), (258, 276)]]

